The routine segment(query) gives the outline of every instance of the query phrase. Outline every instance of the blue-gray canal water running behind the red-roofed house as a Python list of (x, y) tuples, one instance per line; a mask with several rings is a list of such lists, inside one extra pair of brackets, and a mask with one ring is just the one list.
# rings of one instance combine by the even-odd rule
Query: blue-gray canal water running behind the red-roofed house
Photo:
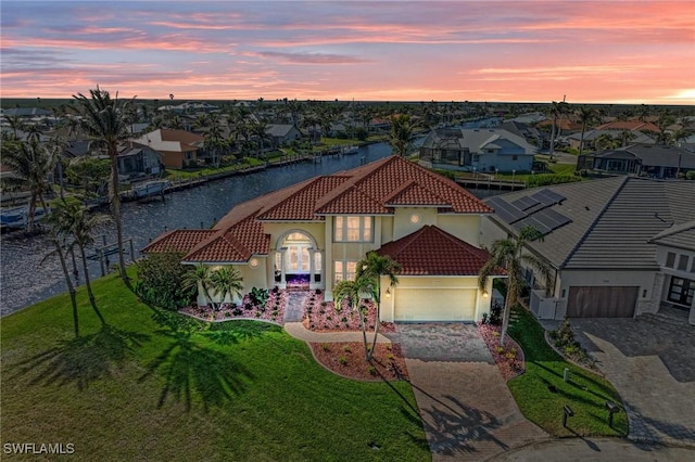
[[(210, 228), (235, 205), (258, 195), (300, 181), (346, 170), (389, 156), (387, 143), (359, 147), (355, 154), (326, 156), (321, 162), (292, 164), (245, 176), (228, 177), (205, 185), (166, 195), (165, 201), (123, 204), (124, 239), (132, 239), (136, 258), (139, 249), (166, 230), (178, 228)], [(109, 244), (116, 242), (113, 223), (102, 227), (98, 242), (105, 236)], [(126, 249), (129, 249), (126, 243)], [(2, 274), (0, 311), (8, 315), (52, 295), (65, 292), (67, 286), (58, 257), (45, 236), (26, 238), (21, 232), (5, 233), (1, 238), (0, 258)], [(129, 257), (126, 255), (126, 260)], [(111, 257), (117, 262), (117, 256)], [(78, 261), (78, 266), (81, 262)], [(72, 270), (72, 265), (71, 265)], [(80, 269), (79, 283), (84, 283)], [(90, 277), (101, 275), (98, 261), (90, 261)]]

